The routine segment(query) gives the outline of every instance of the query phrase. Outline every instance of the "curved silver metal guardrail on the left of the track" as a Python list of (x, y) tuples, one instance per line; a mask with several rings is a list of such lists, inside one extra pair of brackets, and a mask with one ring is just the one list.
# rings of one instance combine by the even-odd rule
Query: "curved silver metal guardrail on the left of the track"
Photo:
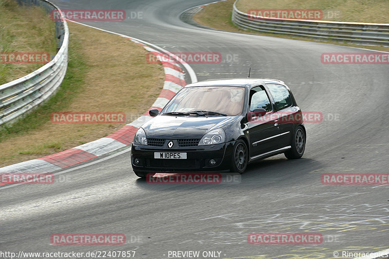
[[(49, 13), (58, 10), (61, 14), (60, 9), (47, 0), (18, 0), (18, 3), (40, 5)], [(63, 17), (55, 23), (59, 50), (53, 60), (26, 76), (0, 86), (0, 126), (12, 124), (23, 117), (61, 85), (68, 68), (69, 29)]]

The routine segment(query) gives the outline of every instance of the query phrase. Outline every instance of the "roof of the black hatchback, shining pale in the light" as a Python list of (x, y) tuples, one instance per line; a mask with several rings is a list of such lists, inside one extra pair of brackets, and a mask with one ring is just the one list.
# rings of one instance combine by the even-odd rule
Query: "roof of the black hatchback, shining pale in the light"
[(285, 83), (277, 79), (263, 79), (263, 78), (221, 78), (221, 79), (211, 79), (201, 82), (196, 82), (185, 87), (192, 86), (239, 86), (239, 87), (251, 87), (257, 84), (281, 84)]

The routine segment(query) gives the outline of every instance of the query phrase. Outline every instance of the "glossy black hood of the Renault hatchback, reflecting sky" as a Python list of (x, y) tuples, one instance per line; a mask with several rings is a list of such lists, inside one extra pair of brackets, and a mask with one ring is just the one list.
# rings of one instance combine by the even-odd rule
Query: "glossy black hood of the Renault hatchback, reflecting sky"
[(202, 138), (235, 116), (188, 117), (159, 115), (142, 125), (147, 138)]

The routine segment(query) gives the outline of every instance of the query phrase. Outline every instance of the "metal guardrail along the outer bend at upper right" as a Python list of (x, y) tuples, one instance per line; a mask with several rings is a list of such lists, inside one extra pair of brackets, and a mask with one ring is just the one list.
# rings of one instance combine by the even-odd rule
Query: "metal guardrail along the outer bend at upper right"
[(389, 24), (279, 19), (249, 15), (233, 5), (232, 21), (242, 29), (331, 39), (362, 45), (389, 46)]

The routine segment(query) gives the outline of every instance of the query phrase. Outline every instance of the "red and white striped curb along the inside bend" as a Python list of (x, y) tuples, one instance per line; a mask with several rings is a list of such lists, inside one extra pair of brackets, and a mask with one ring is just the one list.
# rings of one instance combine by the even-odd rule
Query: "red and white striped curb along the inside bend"
[[(189, 75), (191, 77), (191, 81), (193, 83), (197, 81), (195, 71), (193, 71), (193, 69), (188, 64), (182, 61), (178, 61), (177, 57), (175, 57), (174, 54), (167, 52), (158, 46), (126, 35), (109, 32), (89, 25), (85, 26), (128, 38), (136, 44), (143, 46), (143, 48), (145, 48), (147, 51), (152, 52), (156, 57), (161, 57), (160, 60), (172, 59), (157, 50), (168, 53), (170, 57), (176, 58), (177, 63), (171, 61), (161, 62), (165, 72), (165, 82), (159, 94), (159, 97), (151, 106), (151, 108), (157, 108), (160, 111), (165, 106), (165, 104), (167, 104), (167, 102), (182, 87), (186, 85), (184, 72), (182, 71), (180, 64), (188, 70)], [(112, 133), (109, 136), (106, 136), (105, 138), (100, 138), (92, 142), (80, 145), (78, 147), (59, 152), (57, 154), (47, 155), (41, 158), (2, 167), (0, 168), (0, 173), (52, 173), (54, 171), (58, 171), (82, 162), (86, 162), (98, 156), (106, 155), (119, 148), (130, 145), (135, 136), (135, 133), (141, 127), (141, 125), (151, 119), (152, 117), (148, 114), (148, 112), (146, 112), (135, 121), (124, 125), (120, 130)]]

